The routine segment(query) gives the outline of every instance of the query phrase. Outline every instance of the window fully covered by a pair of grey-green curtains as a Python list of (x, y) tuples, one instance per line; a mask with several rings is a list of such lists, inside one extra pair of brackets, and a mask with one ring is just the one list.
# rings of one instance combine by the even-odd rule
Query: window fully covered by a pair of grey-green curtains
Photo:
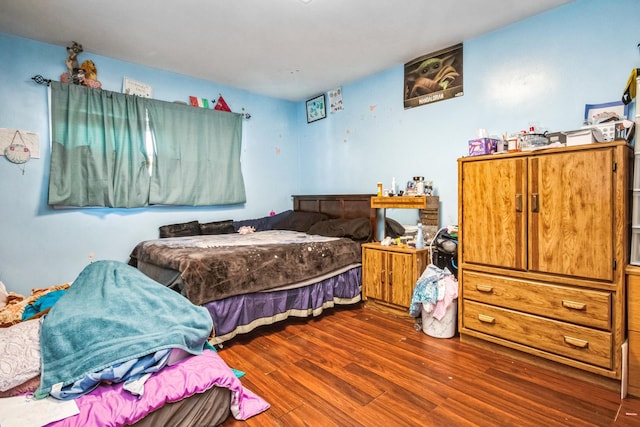
[(53, 206), (246, 201), (242, 116), (51, 82)]

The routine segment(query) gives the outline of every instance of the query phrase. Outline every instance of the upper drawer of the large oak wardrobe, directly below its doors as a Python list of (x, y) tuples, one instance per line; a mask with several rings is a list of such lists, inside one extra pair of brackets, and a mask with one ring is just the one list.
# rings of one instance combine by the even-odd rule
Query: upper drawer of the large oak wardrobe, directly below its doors
[(464, 299), (611, 330), (611, 293), (463, 271)]

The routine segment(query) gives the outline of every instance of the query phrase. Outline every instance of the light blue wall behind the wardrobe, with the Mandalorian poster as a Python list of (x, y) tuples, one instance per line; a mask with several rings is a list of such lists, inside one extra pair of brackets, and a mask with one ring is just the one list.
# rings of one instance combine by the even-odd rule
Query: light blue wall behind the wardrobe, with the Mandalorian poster
[[(467, 141), (479, 128), (501, 135), (529, 122), (577, 129), (585, 104), (620, 100), (640, 66), (638, 17), (637, 0), (577, 0), (464, 40), (460, 98), (404, 110), (399, 64), (344, 85), (344, 111), (327, 119), (307, 125), (299, 105), (301, 191), (374, 192), (378, 181), (422, 175), (434, 180), (441, 225), (456, 224), (456, 159)], [(415, 211), (387, 214), (417, 219)]]

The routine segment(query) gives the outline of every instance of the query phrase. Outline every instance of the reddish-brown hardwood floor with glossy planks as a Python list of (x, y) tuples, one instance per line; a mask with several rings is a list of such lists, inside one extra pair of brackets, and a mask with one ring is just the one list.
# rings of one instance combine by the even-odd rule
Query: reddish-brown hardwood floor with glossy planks
[(225, 427), (640, 425), (640, 399), (362, 306), (262, 328), (220, 355), (271, 404)]

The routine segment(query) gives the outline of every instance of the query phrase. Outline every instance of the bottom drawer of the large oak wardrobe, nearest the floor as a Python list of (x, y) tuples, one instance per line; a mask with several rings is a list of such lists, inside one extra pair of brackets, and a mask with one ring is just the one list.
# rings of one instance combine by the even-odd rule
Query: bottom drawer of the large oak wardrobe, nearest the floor
[(463, 328), (611, 369), (609, 332), (463, 301)]

